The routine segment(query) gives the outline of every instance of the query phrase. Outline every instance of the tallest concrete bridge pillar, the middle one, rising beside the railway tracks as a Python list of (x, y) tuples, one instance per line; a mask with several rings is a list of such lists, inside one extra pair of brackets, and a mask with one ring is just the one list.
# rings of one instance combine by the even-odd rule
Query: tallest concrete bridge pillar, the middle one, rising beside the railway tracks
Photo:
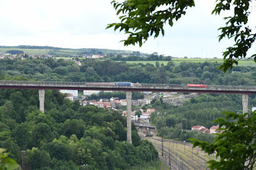
[(131, 122), (131, 113), (132, 113), (132, 92), (126, 92), (126, 101), (127, 101), (127, 142), (132, 143), (132, 122)]

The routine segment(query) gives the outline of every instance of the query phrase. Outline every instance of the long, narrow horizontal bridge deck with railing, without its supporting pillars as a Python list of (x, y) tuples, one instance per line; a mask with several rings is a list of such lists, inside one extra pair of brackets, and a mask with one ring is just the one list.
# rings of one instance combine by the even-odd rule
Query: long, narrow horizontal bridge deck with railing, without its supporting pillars
[(219, 86), (188, 88), (187, 84), (140, 84), (139, 86), (115, 86), (114, 83), (82, 83), (60, 81), (8, 81), (0, 80), (1, 89), (73, 89), (95, 91), (152, 91), (178, 93), (226, 93), (256, 94), (256, 86)]

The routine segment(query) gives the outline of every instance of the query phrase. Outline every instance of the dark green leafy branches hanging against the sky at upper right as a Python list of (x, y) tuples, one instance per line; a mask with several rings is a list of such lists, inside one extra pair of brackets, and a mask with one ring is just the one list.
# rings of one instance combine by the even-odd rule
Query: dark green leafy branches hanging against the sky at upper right
[[(217, 0), (212, 14), (220, 14), (221, 11), (232, 11), (233, 16), (224, 17), (227, 21), (224, 27), (220, 27), (221, 34), (219, 40), (223, 37), (234, 38), (235, 44), (228, 47), (223, 53), (223, 64), (219, 67), (224, 72), (232, 69), (233, 64), (238, 64), (238, 60), (247, 56), (247, 51), (252, 47), (256, 39), (255, 29), (250, 28), (248, 21), (250, 19), (251, 9), (255, 4), (253, 0), (235, 0), (225, 1)], [(184, 14), (186, 9), (195, 6), (193, 0), (188, 1), (138, 1), (124, 0), (122, 2), (112, 1), (119, 23), (112, 23), (107, 28), (114, 27), (114, 30), (120, 29), (125, 34), (129, 34), (124, 40), (124, 45), (135, 45), (139, 43), (142, 46), (150, 36), (158, 37), (160, 33), (164, 36), (164, 24), (173, 26), (173, 20), (176, 21)], [(232, 9), (232, 10), (231, 10)], [(227, 12), (228, 13), (228, 12)], [(253, 26), (252, 26), (253, 27)], [(250, 56), (256, 62), (256, 54)]]

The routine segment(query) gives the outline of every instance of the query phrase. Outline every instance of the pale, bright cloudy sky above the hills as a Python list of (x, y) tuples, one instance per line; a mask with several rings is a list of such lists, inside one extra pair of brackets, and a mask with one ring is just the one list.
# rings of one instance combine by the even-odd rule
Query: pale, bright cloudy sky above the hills
[[(124, 46), (124, 32), (105, 29), (118, 22), (112, 0), (0, 0), (0, 46), (54, 46), (140, 51), (183, 58), (222, 58), (233, 41), (218, 41), (223, 15), (211, 14), (215, 0), (195, 0), (164, 37), (150, 37), (142, 47)], [(256, 9), (250, 24), (256, 23)], [(254, 14), (253, 14), (254, 12)], [(228, 13), (225, 13), (228, 14)], [(255, 28), (256, 29), (256, 28)], [(249, 54), (255, 54), (255, 44)]]

